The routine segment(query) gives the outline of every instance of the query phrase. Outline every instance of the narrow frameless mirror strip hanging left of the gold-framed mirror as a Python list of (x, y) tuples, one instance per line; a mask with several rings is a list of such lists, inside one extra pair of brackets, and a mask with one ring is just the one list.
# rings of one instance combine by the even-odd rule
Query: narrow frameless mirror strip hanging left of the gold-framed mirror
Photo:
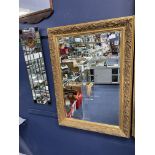
[(40, 104), (50, 103), (50, 93), (38, 28), (21, 30), (20, 39), (32, 89), (33, 100)]

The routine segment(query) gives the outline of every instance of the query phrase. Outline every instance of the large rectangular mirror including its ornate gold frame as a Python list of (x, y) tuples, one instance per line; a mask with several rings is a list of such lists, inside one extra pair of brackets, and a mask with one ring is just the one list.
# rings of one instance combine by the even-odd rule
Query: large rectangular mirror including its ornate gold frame
[[(131, 134), (131, 114), (132, 114), (131, 108), (132, 108), (132, 87), (133, 87), (132, 80), (133, 80), (133, 55), (134, 55), (134, 16), (48, 28), (48, 38), (49, 38), (52, 70), (54, 76), (54, 86), (55, 86), (59, 125), (129, 138)], [(115, 40), (113, 42), (112, 39), (114, 38)], [(103, 40), (103, 42), (101, 41), (101, 39)], [(90, 45), (90, 42), (95, 43), (91, 43)], [(66, 47), (64, 47), (64, 45)], [(95, 50), (98, 51), (101, 48), (102, 51), (97, 53), (94, 52)], [(109, 58), (110, 60), (112, 60), (112, 57), (115, 58), (120, 57), (119, 59), (120, 61), (116, 59), (115, 61), (117, 62), (117, 64), (114, 63), (114, 65), (110, 66), (107, 60), (109, 60)], [(73, 63), (72, 61), (73, 58), (74, 60), (76, 60), (76, 63)], [(98, 58), (103, 59), (100, 60)], [(81, 62), (81, 60), (83, 62)], [(89, 64), (88, 67), (88, 61), (90, 62), (90, 60), (91, 64)], [(71, 61), (72, 64), (70, 63)], [(81, 68), (83, 69), (81, 69), (79, 66), (82, 66)], [(102, 74), (103, 78), (100, 78), (99, 73), (98, 78), (96, 77), (95, 79), (90, 78), (90, 80), (87, 79), (87, 81), (85, 82), (86, 79), (85, 77), (83, 77), (85, 75), (83, 70), (85, 70), (86, 68), (90, 68), (90, 66), (91, 68), (96, 67), (97, 69), (108, 67), (117, 68), (117, 71), (116, 69), (110, 71), (111, 76), (113, 76), (112, 74), (114, 75), (117, 74), (117, 77), (113, 78), (109, 76), (110, 80), (108, 78), (107, 79), (104, 78), (106, 74), (107, 75), (109, 74), (108, 69), (106, 71), (104, 69), (104, 72)], [(65, 73), (63, 70), (64, 68), (67, 68), (65, 70)], [(82, 76), (82, 78), (80, 76)], [(77, 79), (75, 77), (78, 77), (78, 80), (75, 80)], [(66, 86), (67, 83), (66, 80), (67, 82), (71, 81), (71, 83), (69, 83), (72, 85), (71, 87), (70, 85)], [(108, 81), (112, 82), (108, 83)], [(102, 90), (100, 89), (100, 86), (102, 86), (101, 83), (105, 88), (108, 87), (108, 89), (105, 89), (107, 92), (106, 91), (101, 92)], [(108, 84), (108, 86), (106, 84)], [(98, 120), (94, 121), (95, 120), (94, 118), (96, 117), (95, 115), (99, 114), (99, 112), (101, 114), (100, 116), (102, 117), (102, 114), (104, 115), (104, 113), (106, 113), (107, 110), (109, 111), (113, 110), (113, 108), (109, 108), (102, 112), (101, 111), (102, 108), (93, 107), (96, 104), (100, 103), (102, 104), (102, 102), (104, 102), (101, 99), (101, 97), (104, 95), (107, 96), (107, 99), (109, 100), (108, 94), (110, 93), (111, 86), (115, 87), (114, 90), (117, 90), (117, 87), (119, 87), (120, 90), (120, 93), (117, 97), (120, 98), (119, 100), (117, 99), (117, 101), (119, 101), (119, 107), (117, 107), (118, 109), (117, 115), (119, 121), (117, 121), (116, 124), (106, 123), (106, 119), (102, 123)], [(91, 90), (91, 87), (94, 88), (92, 88)], [(83, 116), (80, 117), (82, 119), (77, 119), (76, 117), (73, 116), (73, 112), (76, 112), (75, 110), (78, 109), (79, 107), (77, 105), (72, 107), (72, 109), (70, 109), (71, 107), (69, 107), (70, 105), (72, 106), (74, 105), (75, 98), (77, 98), (78, 96), (77, 93), (79, 94), (79, 92), (82, 92), (83, 90), (86, 90), (87, 92), (86, 93), (83, 92), (82, 94), (83, 96), (82, 105), (85, 107), (87, 106), (87, 109), (89, 109), (90, 108), (89, 106), (92, 105), (93, 105), (92, 107), (94, 108), (93, 109), (91, 107), (92, 108), (91, 110), (93, 111), (94, 115), (93, 117), (92, 115), (86, 116), (85, 113), (86, 117), (91, 117), (89, 119), (86, 117), (84, 118)], [(94, 92), (92, 93), (91, 91)], [(74, 97), (72, 104), (69, 103), (66, 92), (70, 93), (69, 95), (67, 94), (69, 97), (70, 96)], [(97, 96), (97, 92), (100, 93), (100, 96)], [(86, 97), (85, 94), (87, 95)], [(92, 94), (95, 94), (95, 96), (91, 97)], [(118, 92), (116, 94), (118, 94)], [(79, 100), (78, 101), (76, 100), (76, 102), (81, 104), (79, 96), (78, 96)], [(115, 99), (113, 100), (112, 97), (111, 101), (113, 105), (110, 106), (115, 107), (114, 102)], [(86, 100), (88, 100), (90, 103), (89, 102), (87, 103)], [(91, 100), (93, 100), (93, 103), (91, 103)], [(97, 103), (97, 101), (99, 103)], [(109, 101), (107, 102), (110, 104)], [(108, 105), (106, 104), (106, 106)], [(96, 109), (98, 109), (98, 111), (95, 111)], [(111, 115), (112, 114), (108, 114), (108, 116)]]

